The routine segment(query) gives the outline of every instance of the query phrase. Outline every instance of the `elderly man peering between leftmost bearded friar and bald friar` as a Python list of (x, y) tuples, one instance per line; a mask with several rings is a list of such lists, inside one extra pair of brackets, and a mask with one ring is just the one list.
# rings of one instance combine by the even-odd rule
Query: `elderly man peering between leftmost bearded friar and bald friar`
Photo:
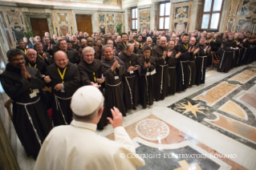
[(41, 75), (45, 75), (47, 72), (47, 63), (44, 63), (41, 59), (37, 58), (37, 53), (33, 49), (26, 51), (26, 66), (38, 68)]

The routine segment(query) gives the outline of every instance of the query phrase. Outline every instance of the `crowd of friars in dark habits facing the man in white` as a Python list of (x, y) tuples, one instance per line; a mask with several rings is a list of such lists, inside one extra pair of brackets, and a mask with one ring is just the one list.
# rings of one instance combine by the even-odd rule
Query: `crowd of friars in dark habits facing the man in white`
[[(230, 32), (221, 37), (205, 32), (198, 35), (198, 31), (144, 31), (117, 36), (95, 33), (93, 38), (82, 33), (67, 35), (67, 39), (56, 35), (50, 38), (46, 33), (43, 42), (39, 36), (31, 38), (36, 42), (28, 45), (19, 41), (17, 49), (7, 52), (9, 63), (0, 75), (2, 87), (13, 100), (18, 138), (27, 155), (36, 159), (51, 130), (47, 111), (52, 110), (54, 126), (70, 124), (71, 98), (82, 86), (98, 87), (104, 94), (105, 109), (98, 123), (98, 129), (103, 129), (108, 124), (107, 117), (112, 117), (112, 107), (126, 116), (139, 103), (145, 108), (153, 101), (205, 83), (205, 68), (211, 63), (213, 52), (221, 55), (221, 72), (226, 72), (226, 65), (230, 64), (226, 59), (230, 59), (229, 51), (239, 49), (242, 56), (236, 58), (235, 66), (253, 62), (255, 34), (250, 36), (247, 32), (242, 41), (236, 34), (234, 38)], [(42, 91), (46, 86), (51, 87), (51, 93)]]

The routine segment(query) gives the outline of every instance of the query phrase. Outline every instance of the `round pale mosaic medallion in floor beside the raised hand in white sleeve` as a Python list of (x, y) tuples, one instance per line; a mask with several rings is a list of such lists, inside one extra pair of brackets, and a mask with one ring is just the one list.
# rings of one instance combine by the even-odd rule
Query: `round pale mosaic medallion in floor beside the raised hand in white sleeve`
[(136, 132), (146, 140), (162, 140), (169, 135), (170, 129), (158, 119), (143, 119), (136, 124)]

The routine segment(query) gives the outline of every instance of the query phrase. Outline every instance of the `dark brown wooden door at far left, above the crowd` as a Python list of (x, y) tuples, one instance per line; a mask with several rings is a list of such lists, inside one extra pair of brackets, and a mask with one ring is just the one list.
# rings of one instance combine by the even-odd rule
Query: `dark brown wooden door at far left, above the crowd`
[(32, 30), (35, 30), (36, 35), (41, 37), (43, 41), (43, 36), (45, 32), (49, 32), (47, 18), (30, 18)]

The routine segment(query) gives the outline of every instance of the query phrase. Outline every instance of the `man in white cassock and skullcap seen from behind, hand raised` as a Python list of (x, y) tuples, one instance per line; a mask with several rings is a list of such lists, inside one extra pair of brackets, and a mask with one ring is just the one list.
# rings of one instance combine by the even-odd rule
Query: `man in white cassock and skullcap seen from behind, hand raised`
[[(122, 126), (122, 114), (116, 107), (112, 109), (113, 119), (108, 118), (114, 128), (115, 141), (95, 132), (103, 106), (104, 96), (98, 88), (84, 86), (75, 91), (71, 99), (71, 124), (51, 130), (43, 142), (35, 170), (132, 170), (143, 167), (145, 162), (139, 156), (127, 157), (136, 151)], [(124, 153), (124, 158), (120, 157), (121, 153)]]

